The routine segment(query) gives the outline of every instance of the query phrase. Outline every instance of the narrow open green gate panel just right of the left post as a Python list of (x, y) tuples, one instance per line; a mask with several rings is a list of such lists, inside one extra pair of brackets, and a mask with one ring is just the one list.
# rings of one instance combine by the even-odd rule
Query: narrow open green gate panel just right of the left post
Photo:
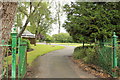
[(19, 38), (19, 45), (18, 45), (18, 55), (19, 55), (19, 64), (18, 64), (18, 78), (23, 78), (26, 74), (26, 67), (27, 67), (27, 43), (21, 41)]

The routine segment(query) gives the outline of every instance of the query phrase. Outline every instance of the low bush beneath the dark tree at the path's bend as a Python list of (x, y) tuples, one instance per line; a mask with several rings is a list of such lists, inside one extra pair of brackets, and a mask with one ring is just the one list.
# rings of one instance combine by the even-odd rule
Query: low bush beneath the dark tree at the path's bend
[(92, 46), (86, 46), (86, 47), (77, 47), (74, 50), (73, 57), (75, 59), (81, 59), (85, 63), (95, 63), (96, 59), (96, 52), (95, 49)]

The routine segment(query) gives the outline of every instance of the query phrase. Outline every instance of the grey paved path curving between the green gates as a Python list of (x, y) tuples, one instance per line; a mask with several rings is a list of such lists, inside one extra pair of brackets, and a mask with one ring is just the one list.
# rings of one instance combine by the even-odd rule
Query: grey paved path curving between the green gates
[(33, 63), (32, 78), (95, 78), (80, 70), (69, 56), (74, 47), (53, 51), (38, 57)]

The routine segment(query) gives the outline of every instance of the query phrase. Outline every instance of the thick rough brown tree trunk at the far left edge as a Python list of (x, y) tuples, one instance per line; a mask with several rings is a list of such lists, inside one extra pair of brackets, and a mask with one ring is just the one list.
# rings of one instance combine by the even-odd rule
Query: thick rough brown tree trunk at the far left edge
[[(16, 8), (16, 2), (0, 2), (0, 45), (2, 40), (7, 44), (10, 39), (10, 32), (13, 26)], [(0, 79), (2, 77), (2, 60), (4, 54), (6, 54), (5, 51), (6, 48), (3, 50), (3, 47), (0, 47)]]

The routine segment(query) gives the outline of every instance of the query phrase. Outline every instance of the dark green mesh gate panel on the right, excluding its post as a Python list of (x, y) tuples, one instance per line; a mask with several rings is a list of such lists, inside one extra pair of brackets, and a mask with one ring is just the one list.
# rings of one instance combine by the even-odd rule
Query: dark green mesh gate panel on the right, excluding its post
[(103, 70), (112, 75), (112, 56), (113, 56), (113, 48), (112, 48), (112, 39), (104, 42), (100, 42), (97, 47), (98, 54), (98, 63)]

